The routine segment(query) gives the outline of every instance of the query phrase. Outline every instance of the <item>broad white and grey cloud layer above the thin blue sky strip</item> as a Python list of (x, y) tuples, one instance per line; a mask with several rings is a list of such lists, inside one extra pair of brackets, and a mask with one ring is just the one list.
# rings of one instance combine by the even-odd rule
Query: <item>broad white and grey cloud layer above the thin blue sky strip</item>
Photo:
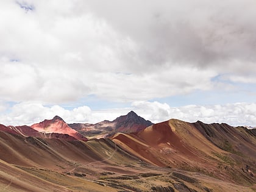
[(218, 75), (256, 83), (252, 0), (0, 5), (5, 101), (148, 100), (214, 90)]

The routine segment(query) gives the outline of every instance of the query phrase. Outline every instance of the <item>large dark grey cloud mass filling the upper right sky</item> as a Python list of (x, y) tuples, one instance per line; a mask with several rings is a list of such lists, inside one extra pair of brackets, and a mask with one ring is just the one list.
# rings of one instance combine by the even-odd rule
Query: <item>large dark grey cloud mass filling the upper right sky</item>
[(152, 64), (255, 61), (254, 1), (87, 2), (95, 15), (135, 40), (137, 56)]

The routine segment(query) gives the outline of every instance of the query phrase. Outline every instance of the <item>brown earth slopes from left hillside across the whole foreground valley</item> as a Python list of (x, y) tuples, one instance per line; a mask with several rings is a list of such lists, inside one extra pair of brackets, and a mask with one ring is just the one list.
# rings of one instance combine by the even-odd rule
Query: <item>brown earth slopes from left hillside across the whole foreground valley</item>
[(0, 157), (0, 191), (252, 191), (204, 172), (148, 164), (106, 139), (0, 132)]

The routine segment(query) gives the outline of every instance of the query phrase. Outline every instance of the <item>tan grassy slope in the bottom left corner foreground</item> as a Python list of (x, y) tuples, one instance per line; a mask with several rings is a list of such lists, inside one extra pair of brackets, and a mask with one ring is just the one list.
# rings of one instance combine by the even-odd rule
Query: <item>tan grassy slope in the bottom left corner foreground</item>
[(99, 185), (87, 179), (71, 177), (67, 174), (43, 168), (13, 166), (0, 160), (0, 191), (15, 192), (79, 192), (118, 191)]

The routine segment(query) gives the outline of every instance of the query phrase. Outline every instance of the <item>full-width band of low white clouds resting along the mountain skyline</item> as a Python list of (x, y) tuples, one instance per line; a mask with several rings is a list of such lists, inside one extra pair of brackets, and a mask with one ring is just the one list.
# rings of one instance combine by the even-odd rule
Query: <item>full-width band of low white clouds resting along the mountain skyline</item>
[(62, 117), (66, 123), (98, 123), (104, 120), (113, 121), (133, 110), (139, 116), (153, 123), (160, 123), (171, 118), (188, 122), (227, 123), (231, 126), (256, 126), (256, 104), (234, 103), (226, 105), (185, 105), (170, 107), (166, 103), (136, 101), (127, 108), (108, 108), (91, 110), (84, 105), (66, 109), (59, 105), (46, 106), (38, 103), (22, 102), (13, 105), (8, 113), (0, 115), (0, 123), (5, 125), (31, 125), (52, 119), (55, 115)]

